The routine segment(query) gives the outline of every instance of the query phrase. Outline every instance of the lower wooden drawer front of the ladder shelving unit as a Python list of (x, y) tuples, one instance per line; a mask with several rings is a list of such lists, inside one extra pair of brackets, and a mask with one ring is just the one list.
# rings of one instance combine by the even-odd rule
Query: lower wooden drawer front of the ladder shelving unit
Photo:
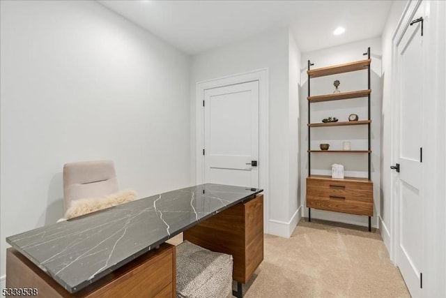
[(343, 199), (326, 199), (307, 194), (307, 207), (327, 211), (337, 211), (357, 215), (374, 215), (374, 205), (371, 202), (352, 202)]

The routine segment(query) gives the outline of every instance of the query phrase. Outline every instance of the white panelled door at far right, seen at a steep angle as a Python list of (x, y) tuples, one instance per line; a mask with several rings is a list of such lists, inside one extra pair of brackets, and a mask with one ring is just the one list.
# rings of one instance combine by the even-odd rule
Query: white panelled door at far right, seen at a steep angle
[[(413, 19), (424, 17), (424, 6)], [(397, 45), (396, 173), (394, 195), (398, 202), (396, 262), (412, 297), (422, 295), (424, 200), (422, 138), (424, 132), (424, 62), (422, 23), (409, 26)], [(424, 32), (426, 34), (426, 32)]]

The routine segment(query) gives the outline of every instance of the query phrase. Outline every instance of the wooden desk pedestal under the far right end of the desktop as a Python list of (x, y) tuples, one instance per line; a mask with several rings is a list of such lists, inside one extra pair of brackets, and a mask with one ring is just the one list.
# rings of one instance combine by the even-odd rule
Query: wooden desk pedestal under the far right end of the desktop
[(263, 195), (194, 225), (183, 237), (210, 251), (233, 255), (232, 278), (247, 283), (263, 260)]

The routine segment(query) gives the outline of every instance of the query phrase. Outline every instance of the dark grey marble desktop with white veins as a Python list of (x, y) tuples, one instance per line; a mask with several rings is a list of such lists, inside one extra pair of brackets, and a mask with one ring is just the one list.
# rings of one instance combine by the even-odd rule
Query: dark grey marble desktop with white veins
[(6, 241), (73, 293), (261, 191), (202, 184), (16, 234)]

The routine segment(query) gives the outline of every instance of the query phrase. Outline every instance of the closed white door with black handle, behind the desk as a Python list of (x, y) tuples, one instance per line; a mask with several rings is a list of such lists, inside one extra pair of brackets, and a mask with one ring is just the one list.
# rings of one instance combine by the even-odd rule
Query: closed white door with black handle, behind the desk
[(259, 187), (258, 81), (204, 92), (203, 153), (205, 183)]

